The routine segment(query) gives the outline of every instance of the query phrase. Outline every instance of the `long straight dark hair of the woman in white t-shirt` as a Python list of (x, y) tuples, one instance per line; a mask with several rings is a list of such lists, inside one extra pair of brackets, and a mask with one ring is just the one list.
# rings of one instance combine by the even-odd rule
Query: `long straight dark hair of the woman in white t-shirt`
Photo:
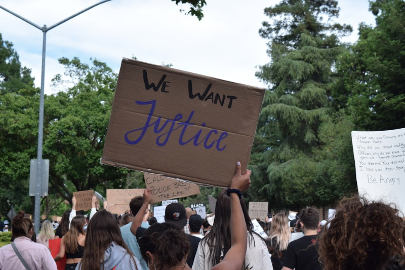
[[(240, 206), (244, 212), (246, 227), (248, 228), (249, 246), (256, 245), (253, 238), (253, 234), (259, 236), (253, 231), (252, 220), (249, 217), (248, 210), (246, 209), (246, 203), (243, 197), (239, 199)], [(214, 224), (210, 230), (210, 233), (201, 240), (201, 244), (207, 244), (209, 247), (208, 260), (216, 265), (221, 260), (221, 251), (223, 248), (223, 255), (225, 256), (228, 250), (231, 248), (231, 199), (226, 195), (226, 189), (223, 189), (217, 199), (215, 205), (215, 219)], [(260, 236), (259, 236), (260, 237)], [(260, 239), (262, 239), (260, 237)], [(263, 241), (264, 242), (264, 241)]]

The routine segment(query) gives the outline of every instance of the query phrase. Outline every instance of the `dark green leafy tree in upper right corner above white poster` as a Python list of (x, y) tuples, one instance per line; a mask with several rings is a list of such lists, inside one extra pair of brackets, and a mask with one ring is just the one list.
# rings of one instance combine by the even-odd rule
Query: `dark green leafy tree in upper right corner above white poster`
[(360, 130), (405, 127), (405, 2), (372, 1), (376, 26), (360, 24), (359, 39), (340, 58), (334, 95)]

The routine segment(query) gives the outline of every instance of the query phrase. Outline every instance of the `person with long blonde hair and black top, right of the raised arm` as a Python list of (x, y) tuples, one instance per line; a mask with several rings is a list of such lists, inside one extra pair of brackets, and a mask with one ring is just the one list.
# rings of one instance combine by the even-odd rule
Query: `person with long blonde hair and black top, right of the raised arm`
[(282, 268), (282, 260), (291, 237), (289, 220), (284, 214), (276, 214), (271, 220), (270, 236), (266, 239), (274, 270)]

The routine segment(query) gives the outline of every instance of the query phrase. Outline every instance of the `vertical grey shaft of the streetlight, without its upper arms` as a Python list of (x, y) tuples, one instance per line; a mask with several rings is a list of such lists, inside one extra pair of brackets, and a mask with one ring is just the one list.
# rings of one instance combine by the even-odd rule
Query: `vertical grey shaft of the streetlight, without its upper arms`
[(41, 212), (41, 193), (42, 193), (42, 144), (44, 134), (44, 87), (45, 87), (45, 52), (47, 46), (47, 31), (46, 25), (42, 28), (44, 39), (42, 42), (42, 69), (41, 69), (41, 94), (39, 96), (39, 124), (38, 124), (38, 148), (36, 152), (36, 189), (35, 189), (35, 208), (34, 208), (34, 224), (35, 234), (39, 233), (39, 216)]

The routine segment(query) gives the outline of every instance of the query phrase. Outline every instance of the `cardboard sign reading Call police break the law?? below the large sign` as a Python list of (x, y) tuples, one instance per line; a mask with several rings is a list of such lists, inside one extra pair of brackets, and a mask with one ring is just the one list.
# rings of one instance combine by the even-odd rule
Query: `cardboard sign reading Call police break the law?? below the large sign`
[(199, 194), (196, 184), (151, 173), (143, 173), (143, 176), (146, 187), (152, 189), (151, 203)]

